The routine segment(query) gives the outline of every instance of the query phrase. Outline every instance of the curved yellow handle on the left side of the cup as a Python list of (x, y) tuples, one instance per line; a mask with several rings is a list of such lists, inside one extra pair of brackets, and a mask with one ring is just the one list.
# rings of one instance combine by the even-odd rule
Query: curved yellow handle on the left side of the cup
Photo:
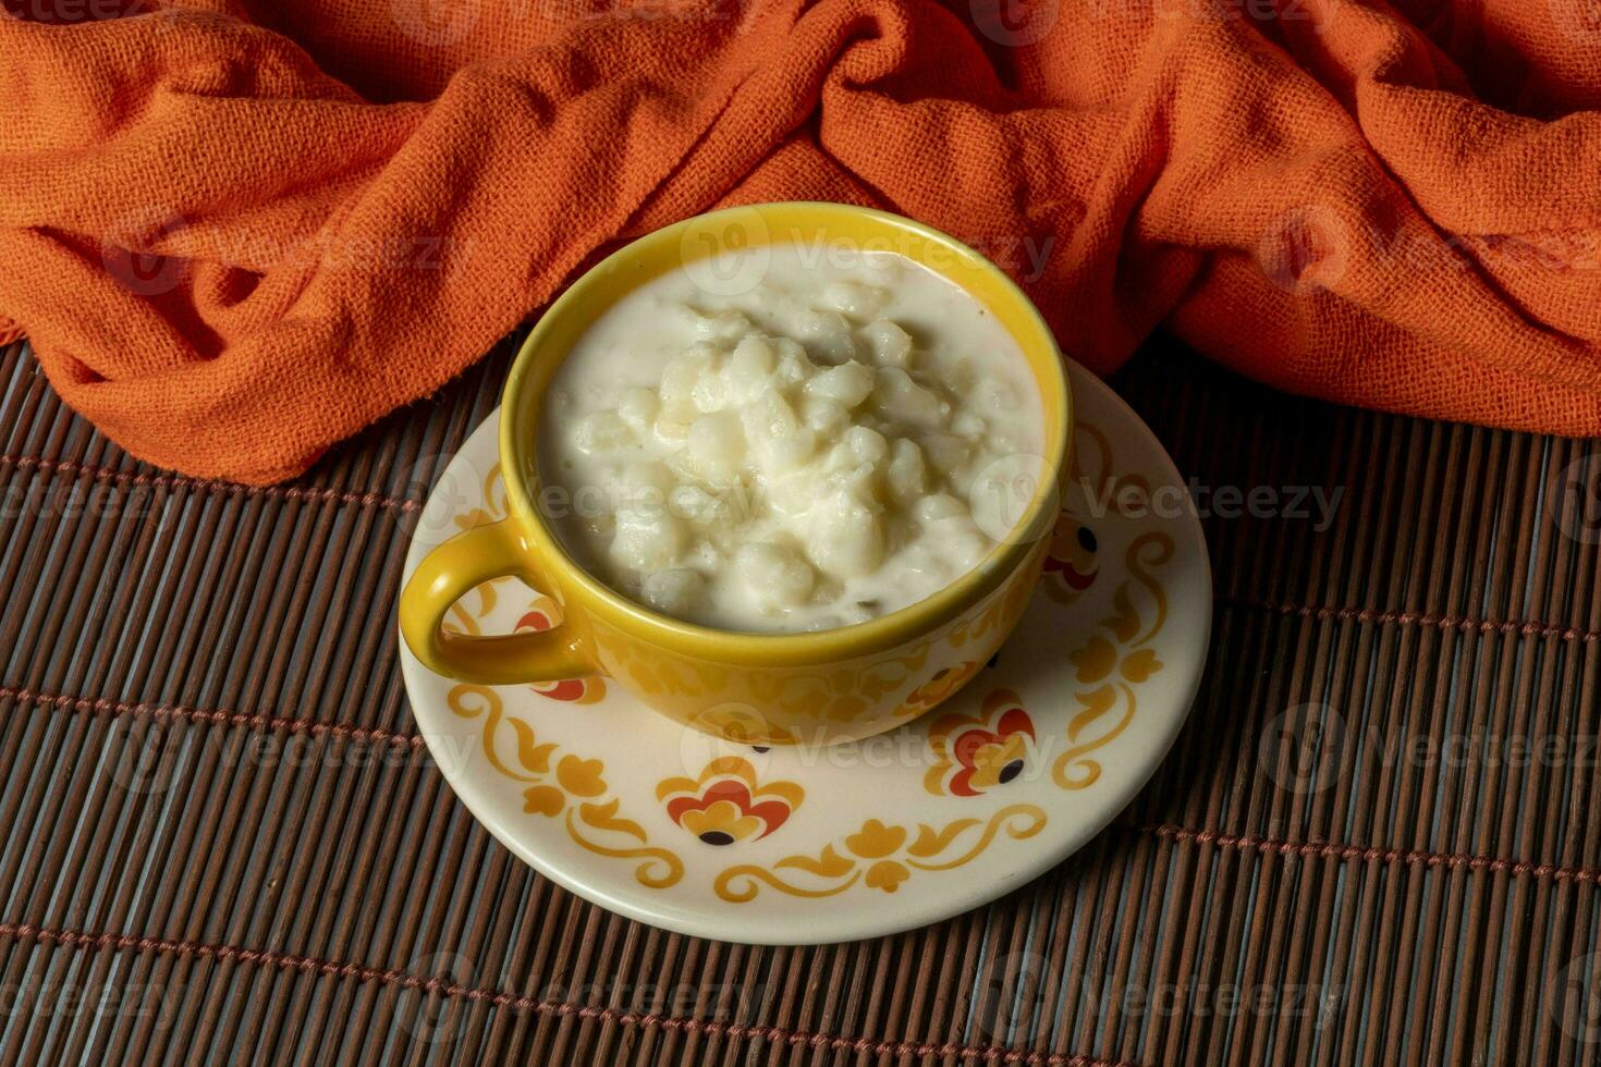
[(519, 685), (583, 678), (600, 670), (588, 643), (565, 622), (536, 633), (472, 637), (447, 633), (445, 613), (463, 593), (492, 577), (516, 574), (530, 587), (540, 577), (516, 518), (474, 526), (442, 542), (418, 563), (400, 592), (400, 633), (411, 654), (450, 678), (480, 685)]

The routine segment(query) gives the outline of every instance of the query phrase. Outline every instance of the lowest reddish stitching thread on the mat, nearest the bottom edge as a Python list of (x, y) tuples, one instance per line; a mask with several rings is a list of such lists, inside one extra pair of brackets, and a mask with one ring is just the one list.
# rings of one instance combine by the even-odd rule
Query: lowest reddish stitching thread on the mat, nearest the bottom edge
[(893, 1056), (956, 1056), (961, 1059), (978, 1059), (1001, 1064), (1037, 1064), (1042, 1067), (1137, 1067), (1129, 1062), (1111, 1062), (1090, 1059), (1089, 1056), (1069, 1056), (1066, 1053), (1034, 1053), (1017, 1048), (933, 1045), (929, 1041), (885, 1041), (866, 1037), (842, 1037), (836, 1033), (792, 1030), (789, 1027), (746, 1025), (741, 1022), (719, 1022), (716, 1019), (682, 1019), (674, 1016), (658, 1016), (655, 1013), (620, 1011), (616, 1008), (594, 1008), (589, 1005), (573, 1005), (567, 1001), (538, 1000), (535, 997), (508, 993), (487, 987), (467, 987), (456, 982), (445, 982), (437, 977), (419, 977), (400, 969), (378, 969), (357, 963), (335, 963), (315, 957), (296, 957), (282, 952), (266, 952), (258, 949), (240, 949), (237, 945), (208, 945), (192, 941), (167, 941), (162, 937), (133, 937), (130, 934), (88, 934), (72, 929), (51, 929), (48, 926), (32, 926), (29, 923), (0, 923), (0, 936), (22, 941), (42, 941), (70, 949), (134, 949), (138, 952), (168, 952), (175, 955), (192, 955), (213, 960), (239, 960), (258, 966), (279, 968), (283, 971), (299, 971), (301, 974), (328, 974), (336, 977), (354, 977), (359, 982), (379, 982), (383, 985), (399, 985), (424, 993), (442, 997), (464, 997), (474, 1001), (487, 1001), (496, 1008), (512, 1011), (554, 1013), (560, 1016), (576, 1016), (580, 1019), (602, 1019), (618, 1025), (656, 1027), (663, 1030), (687, 1030), (695, 1033), (720, 1033), (732, 1038), (765, 1038), (784, 1045), (805, 1045), (810, 1048), (850, 1049), (853, 1053), (877, 1053)]

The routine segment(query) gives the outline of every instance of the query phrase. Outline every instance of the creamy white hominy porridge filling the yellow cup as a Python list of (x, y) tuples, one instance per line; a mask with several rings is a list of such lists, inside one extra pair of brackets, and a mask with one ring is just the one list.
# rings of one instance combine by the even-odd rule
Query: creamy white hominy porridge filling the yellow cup
[(1037, 390), (983, 306), (903, 256), (762, 254), (749, 291), (680, 269), (584, 331), (546, 394), (540, 507), (580, 565), (664, 614), (865, 622), (1004, 534), (975, 512), (1015, 491), (1009, 458), (1039, 454)]

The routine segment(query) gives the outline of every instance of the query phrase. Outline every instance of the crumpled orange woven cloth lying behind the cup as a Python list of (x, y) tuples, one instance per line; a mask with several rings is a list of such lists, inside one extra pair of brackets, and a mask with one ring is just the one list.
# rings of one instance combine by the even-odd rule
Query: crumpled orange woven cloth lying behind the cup
[(612, 242), (786, 198), (973, 243), (1101, 373), (1167, 323), (1601, 432), (1583, 0), (0, 3), (0, 331), (195, 475), (293, 475)]

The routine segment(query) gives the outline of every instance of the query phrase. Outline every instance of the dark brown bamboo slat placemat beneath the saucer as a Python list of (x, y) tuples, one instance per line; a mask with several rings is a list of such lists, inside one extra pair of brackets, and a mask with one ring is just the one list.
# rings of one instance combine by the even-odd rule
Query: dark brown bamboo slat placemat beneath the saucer
[(0, 1061), (1595, 1062), (1601, 446), (1151, 347), (1114, 384), (1210, 501), (1185, 736), (1023, 891), (815, 949), (591, 907), (431, 765), (400, 563), (509, 347), (269, 490), (0, 352)]

